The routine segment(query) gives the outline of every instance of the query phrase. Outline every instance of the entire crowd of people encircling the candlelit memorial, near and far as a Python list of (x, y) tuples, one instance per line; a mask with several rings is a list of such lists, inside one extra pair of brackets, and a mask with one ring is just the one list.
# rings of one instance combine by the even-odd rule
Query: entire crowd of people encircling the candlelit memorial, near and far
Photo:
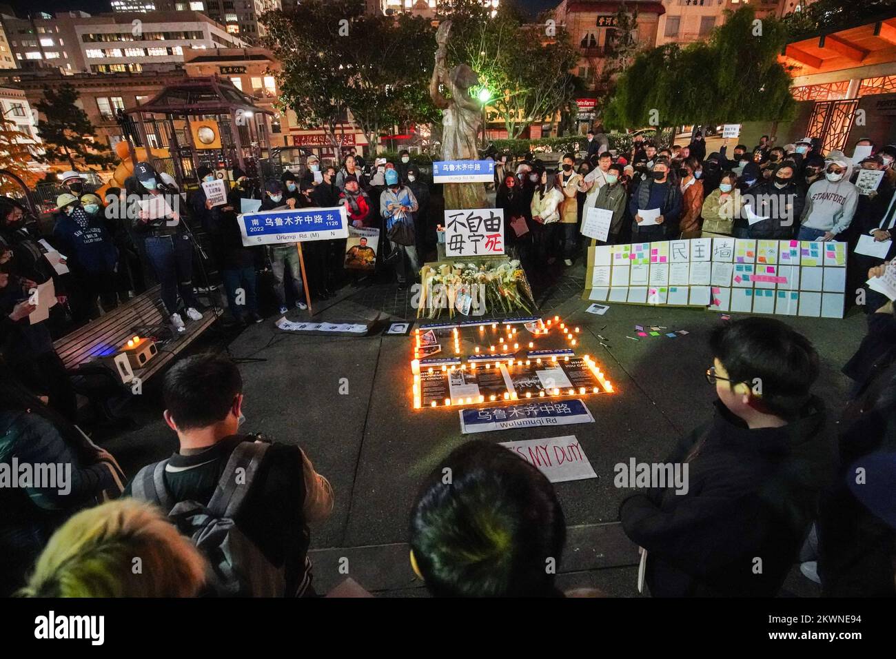
[[(707, 155), (699, 133), (668, 149), (638, 135), (631, 152), (615, 154), (590, 134), (585, 156), (566, 153), (556, 170), (534, 156), (516, 162), (492, 154), (495, 204), (504, 209), (508, 248), (533, 279), (561, 261), (573, 264), (594, 244), (581, 233), (592, 207), (612, 212), (608, 243), (891, 239), (896, 147), (859, 145), (873, 148), (859, 167), (884, 169), (871, 194), (850, 182), (851, 159), (823, 157), (811, 140), (778, 147), (763, 137), (753, 150), (737, 144), (729, 160), (727, 146)], [(438, 223), (429, 187), (409, 160), (401, 152), (397, 162), (367, 167), (348, 153), (335, 167), (310, 157), (301, 173), (286, 171), (263, 189), (234, 168), (227, 202), (218, 205), (202, 187), (182, 196), (148, 162), (103, 198), (68, 172), (51, 246), (65, 255), (67, 276), (45, 258), (47, 245), (22, 205), (0, 201), (0, 458), (62, 465), (71, 474), (65, 495), (36, 483), (0, 488), (2, 594), (317, 594), (311, 528), (332, 513), (340, 492), (301, 447), (241, 429), (237, 365), (200, 354), (168, 369), (163, 417), (177, 451), (129, 481), (75, 425), (73, 389), (53, 350), (60, 321), (30, 323), (30, 291), (52, 279), (58, 306), (71, 312), (65, 322), (82, 323), (159, 282), (177, 331), (208, 313), (199, 293), (213, 267), (237, 322), (261, 320), (258, 273), (271, 273), (280, 313), (304, 309), (297, 246), (243, 245), (237, 214), (246, 200), (261, 210), (344, 206), (352, 227), (381, 230), (406, 286), (435, 248)], [(197, 176), (216, 178), (209, 167)], [(197, 229), (209, 259), (197, 249)], [(344, 241), (308, 243), (303, 257), (310, 292), (331, 295), (346, 276)], [(883, 262), (850, 256), (863, 279)], [(887, 478), (896, 448), (896, 316), (892, 301), (870, 292), (867, 306), (869, 332), (844, 368), (854, 386), (843, 412), (814, 395), (818, 354), (788, 325), (750, 317), (713, 332), (706, 378), (718, 401), (711, 420), (670, 447), (666, 461), (688, 464), (688, 492), (652, 488), (620, 509), (625, 533), (642, 548), (650, 594), (773, 596), (797, 559), (812, 566), (806, 572), (823, 594), (896, 594)], [(751, 384), (757, 378), (761, 391)], [(839, 421), (836, 437), (832, 421)], [(875, 478), (857, 487), (857, 469)], [(543, 474), (504, 447), (470, 441), (439, 461), (409, 510), (410, 563), (435, 596), (599, 594), (558, 584), (565, 533), (563, 507)], [(132, 569), (135, 555), (146, 563), (140, 572)]]

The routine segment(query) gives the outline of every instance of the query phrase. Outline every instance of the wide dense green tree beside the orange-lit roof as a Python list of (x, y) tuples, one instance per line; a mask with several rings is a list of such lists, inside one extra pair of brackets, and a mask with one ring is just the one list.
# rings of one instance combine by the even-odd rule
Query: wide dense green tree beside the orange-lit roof
[[(706, 42), (667, 44), (635, 57), (607, 103), (609, 127), (786, 120), (796, 103), (778, 61), (788, 33), (780, 21), (754, 22), (746, 6), (727, 13)], [(758, 30), (757, 30), (758, 25)]]

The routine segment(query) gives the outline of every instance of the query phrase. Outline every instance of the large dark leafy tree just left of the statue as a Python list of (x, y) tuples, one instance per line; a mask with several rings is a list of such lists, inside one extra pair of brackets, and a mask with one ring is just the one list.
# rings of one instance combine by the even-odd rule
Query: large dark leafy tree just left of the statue
[(427, 92), (432, 26), (364, 8), (363, 0), (306, 0), (262, 16), (266, 45), (281, 62), (280, 107), (303, 127), (323, 127), (337, 149), (348, 112), (372, 147), (393, 125), (435, 117)]

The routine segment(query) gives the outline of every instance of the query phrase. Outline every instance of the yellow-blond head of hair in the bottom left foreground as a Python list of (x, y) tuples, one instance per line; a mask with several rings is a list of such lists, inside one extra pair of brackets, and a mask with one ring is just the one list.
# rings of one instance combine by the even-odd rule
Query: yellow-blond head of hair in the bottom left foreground
[(59, 528), (40, 555), (25, 597), (194, 597), (207, 563), (159, 508), (118, 499)]

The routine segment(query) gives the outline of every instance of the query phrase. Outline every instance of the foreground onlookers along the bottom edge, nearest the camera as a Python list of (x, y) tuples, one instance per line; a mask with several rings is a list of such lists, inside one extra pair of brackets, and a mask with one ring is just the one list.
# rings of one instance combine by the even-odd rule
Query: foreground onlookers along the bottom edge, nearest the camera
[[(620, 508), (650, 594), (773, 596), (798, 558), (825, 595), (896, 594), (894, 330), (888, 302), (844, 369), (854, 387), (843, 412), (814, 395), (818, 353), (789, 325), (754, 316), (713, 331), (706, 378), (718, 400), (666, 461), (687, 464), (687, 491), (653, 483)], [(177, 451), (126, 487), (108, 452), (2, 382), (0, 455), (73, 473), (72, 496), (0, 489), (4, 594), (316, 594), (311, 526), (340, 492), (300, 447), (241, 430), (233, 361), (200, 354), (168, 370)], [(600, 596), (557, 583), (565, 537), (546, 476), (484, 440), (438, 460), (409, 511), (411, 568), (435, 596)]]

